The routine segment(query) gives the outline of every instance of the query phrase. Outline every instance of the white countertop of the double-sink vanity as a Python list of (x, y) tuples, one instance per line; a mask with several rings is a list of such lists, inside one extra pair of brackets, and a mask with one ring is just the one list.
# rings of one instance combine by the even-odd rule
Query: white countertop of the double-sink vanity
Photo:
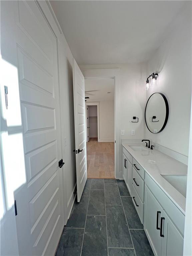
[(149, 176), (185, 215), (186, 198), (166, 181), (161, 174), (187, 175), (187, 165), (155, 149), (149, 149), (148, 151), (134, 151), (130, 148), (130, 146), (134, 145), (142, 144), (122, 142), (122, 146), (135, 158)]

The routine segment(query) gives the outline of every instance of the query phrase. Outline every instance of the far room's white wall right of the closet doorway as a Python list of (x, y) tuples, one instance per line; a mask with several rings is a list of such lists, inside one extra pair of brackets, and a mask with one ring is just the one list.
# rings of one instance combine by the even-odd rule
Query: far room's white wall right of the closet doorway
[(114, 101), (99, 102), (99, 141), (114, 141)]

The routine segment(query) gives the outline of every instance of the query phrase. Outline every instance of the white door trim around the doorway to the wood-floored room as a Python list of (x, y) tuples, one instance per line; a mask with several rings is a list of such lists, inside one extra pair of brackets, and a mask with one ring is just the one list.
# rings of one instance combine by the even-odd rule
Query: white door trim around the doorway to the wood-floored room
[(119, 134), (119, 97), (120, 69), (82, 69), (85, 79), (113, 78), (114, 79), (114, 137), (115, 137), (115, 178), (122, 179), (120, 171), (120, 134)]

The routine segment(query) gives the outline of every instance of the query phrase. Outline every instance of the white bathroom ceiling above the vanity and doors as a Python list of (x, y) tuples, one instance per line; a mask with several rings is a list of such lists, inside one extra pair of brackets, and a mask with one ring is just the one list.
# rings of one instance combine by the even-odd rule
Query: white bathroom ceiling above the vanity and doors
[(50, 1), (79, 65), (146, 61), (185, 1)]

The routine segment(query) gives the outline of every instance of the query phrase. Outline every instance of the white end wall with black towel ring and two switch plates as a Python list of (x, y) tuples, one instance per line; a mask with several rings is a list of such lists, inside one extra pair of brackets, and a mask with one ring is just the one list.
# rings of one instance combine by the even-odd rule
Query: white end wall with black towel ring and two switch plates
[[(81, 70), (120, 68), (120, 130), (125, 130), (124, 136), (121, 136), (119, 131), (120, 139), (143, 138), (146, 64), (80, 65), (79, 67)], [(133, 116), (139, 118), (138, 123), (131, 123)], [(131, 136), (132, 129), (135, 129), (135, 136)]]

